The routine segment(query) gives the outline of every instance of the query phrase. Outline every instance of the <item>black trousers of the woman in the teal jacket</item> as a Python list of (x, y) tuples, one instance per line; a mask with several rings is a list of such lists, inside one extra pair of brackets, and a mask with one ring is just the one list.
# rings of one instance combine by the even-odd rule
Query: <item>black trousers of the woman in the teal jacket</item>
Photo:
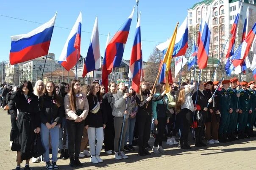
[(158, 125), (157, 125), (157, 134), (156, 134), (156, 139), (154, 142), (154, 146), (161, 146), (162, 141), (163, 141), (163, 135), (165, 132), (165, 127), (167, 124), (167, 118), (157, 118)]

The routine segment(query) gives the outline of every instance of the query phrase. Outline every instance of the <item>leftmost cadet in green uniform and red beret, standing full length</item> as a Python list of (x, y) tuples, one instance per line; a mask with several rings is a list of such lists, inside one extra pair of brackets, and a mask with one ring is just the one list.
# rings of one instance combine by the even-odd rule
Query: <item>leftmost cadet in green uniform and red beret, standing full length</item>
[(230, 94), (228, 93), (230, 80), (223, 80), (222, 85), (223, 88), (220, 91), (218, 97), (220, 101), (220, 127), (219, 127), (219, 141), (225, 143), (228, 141), (227, 139), (227, 131), (228, 125), (230, 122), (230, 113), (233, 112), (232, 105), (231, 105), (231, 98)]

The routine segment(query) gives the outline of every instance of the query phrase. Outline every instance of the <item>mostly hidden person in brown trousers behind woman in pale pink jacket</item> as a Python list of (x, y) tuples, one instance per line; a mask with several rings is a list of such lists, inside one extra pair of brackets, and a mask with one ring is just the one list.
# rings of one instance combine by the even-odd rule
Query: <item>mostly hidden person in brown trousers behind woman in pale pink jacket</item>
[[(81, 89), (81, 93), (83, 93), (87, 96), (87, 94), (89, 92), (89, 88), (90, 88), (90, 85), (88, 85), (88, 84), (83, 85), (82, 89)], [(81, 153), (79, 154), (80, 158), (83, 158), (84, 156), (91, 156), (90, 152), (88, 151), (88, 143), (89, 143), (88, 132), (87, 132), (86, 127), (84, 126), (83, 137), (81, 140), (81, 147), (80, 147)]]

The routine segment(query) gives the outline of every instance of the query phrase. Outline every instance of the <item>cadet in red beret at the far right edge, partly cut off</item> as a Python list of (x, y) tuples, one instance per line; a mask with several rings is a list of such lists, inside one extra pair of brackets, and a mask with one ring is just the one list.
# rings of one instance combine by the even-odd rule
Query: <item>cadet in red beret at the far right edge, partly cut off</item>
[(249, 137), (254, 137), (253, 134), (253, 123), (256, 118), (256, 91), (254, 90), (255, 82), (251, 81), (248, 83), (250, 85), (250, 88), (248, 89), (250, 91), (250, 103), (251, 103), (251, 110), (252, 113), (248, 116), (248, 122), (246, 126), (246, 132)]

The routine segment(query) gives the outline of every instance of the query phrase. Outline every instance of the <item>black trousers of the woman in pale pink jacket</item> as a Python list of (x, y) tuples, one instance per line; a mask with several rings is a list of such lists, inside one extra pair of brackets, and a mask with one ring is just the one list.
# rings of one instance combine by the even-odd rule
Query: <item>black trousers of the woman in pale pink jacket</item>
[(66, 120), (67, 123), (67, 135), (68, 135), (68, 154), (70, 157), (78, 157), (80, 154), (81, 139), (83, 136), (84, 121), (79, 123)]

